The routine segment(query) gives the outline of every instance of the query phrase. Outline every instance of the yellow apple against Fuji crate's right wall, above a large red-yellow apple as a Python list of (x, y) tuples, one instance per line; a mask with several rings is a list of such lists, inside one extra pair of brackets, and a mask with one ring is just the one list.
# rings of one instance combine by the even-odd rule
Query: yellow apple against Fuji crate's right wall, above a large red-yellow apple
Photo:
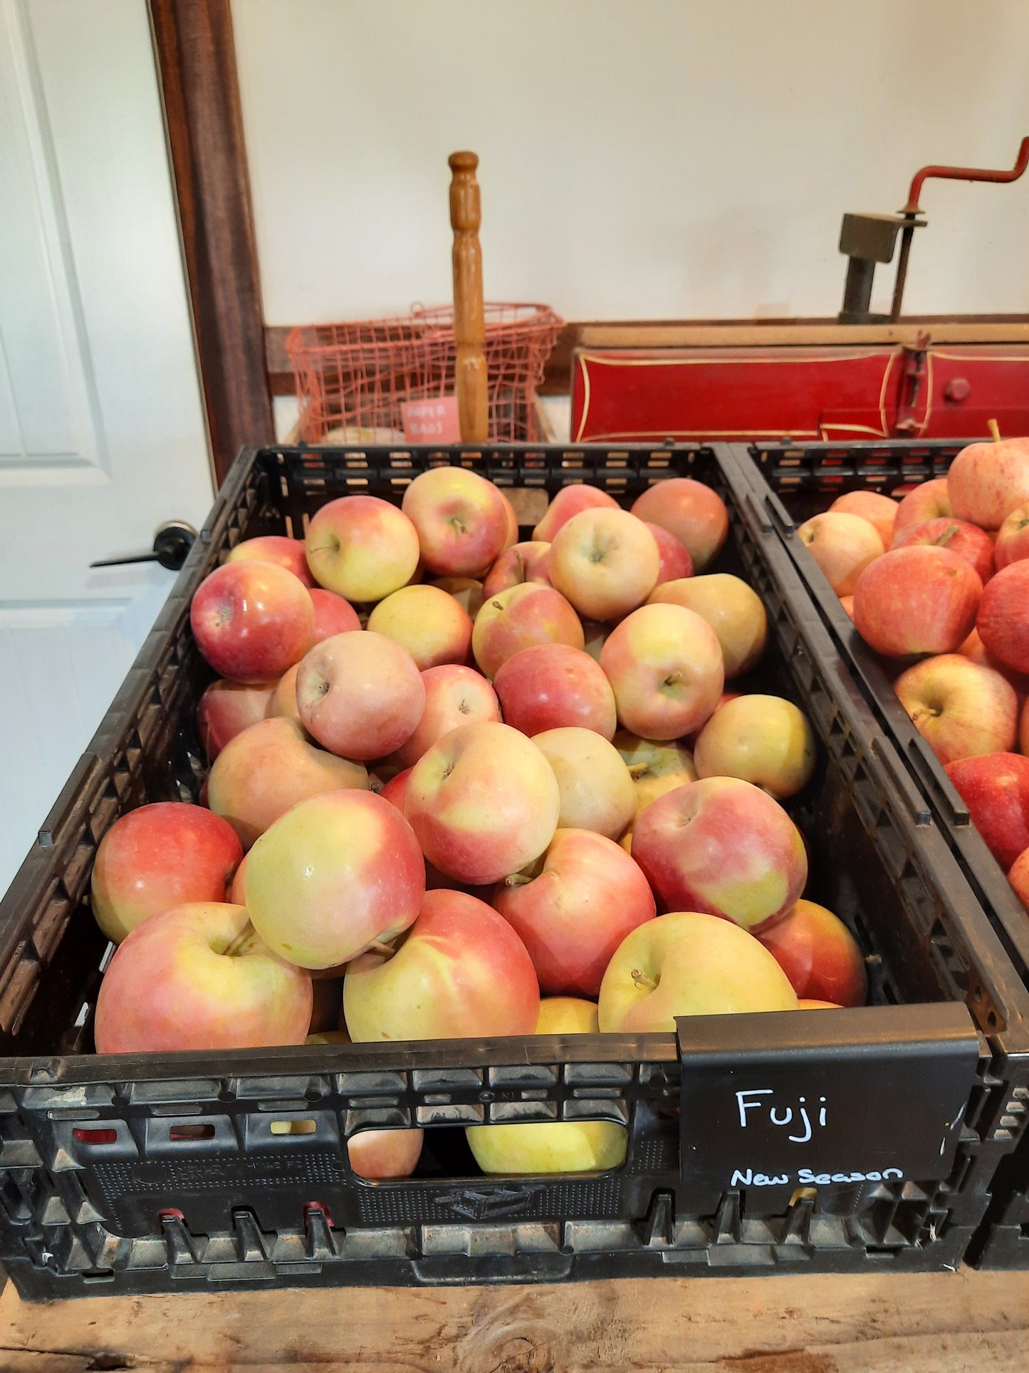
[(815, 733), (803, 710), (782, 696), (737, 696), (719, 706), (697, 736), (698, 777), (741, 777), (783, 800), (811, 781)]

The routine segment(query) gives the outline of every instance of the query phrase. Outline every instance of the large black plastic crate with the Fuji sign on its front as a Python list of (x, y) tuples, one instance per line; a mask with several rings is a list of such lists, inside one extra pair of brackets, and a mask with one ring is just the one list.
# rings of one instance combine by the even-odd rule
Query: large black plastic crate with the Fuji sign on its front
[[(189, 632), (193, 589), (237, 540), (298, 534), (325, 500), (351, 492), (399, 500), (435, 463), (536, 487), (541, 504), (579, 481), (626, 503), (670, 475), (719, 490), (730, 538), (716, 566), (742, 573), (768, 611), (760, 685), (803, 704), (822, 743), (816, 778), (790, 803), (811, 846), (809, 895), (856, 931), (874, 1005), (686, 1019), (678, 1039), (91, 1052), (106, 953), (84, 903), (96, 846), (132, 806), (195, 799), (204, 773), (193, 711), (210, 670)], [(0, 903), (0, 1262), (27, 1297), (949, 1269), (1025, 1127), (1029, 997), (789, 557), (761, 527), (749, 478), (711, 448), (244, 450)], [(831, 1089), (851, 1112), (844, 1135), (878, 1131), (927, 1162), (900, 1179), (818, 1174), (796, 1186), (788, 1174), (760, 1185), (741, 1171), (746, 1159), (718, 1157), (722, 1135), (698, 1105), (720, 1082), (756, 1082), (759, 1070), (794, 1089)], [(932, 1100), (930, 1079), (941, 1082)], [(922, 1108), (943, 1109), (943, 1097), (937, 1148), (940, 1122), (927, 1126)], [(464, 1124), (583, 1118), (628, 1127), (624, 1167), (473, 1175)], [(273, 1131), (281, 1120), (313, 1124)], [(353, 1175), (348, 1135), (410, 1124), (429, 1127), (414, 1178)], [(707, 1171), (704, 1151), (716, 1156)]]

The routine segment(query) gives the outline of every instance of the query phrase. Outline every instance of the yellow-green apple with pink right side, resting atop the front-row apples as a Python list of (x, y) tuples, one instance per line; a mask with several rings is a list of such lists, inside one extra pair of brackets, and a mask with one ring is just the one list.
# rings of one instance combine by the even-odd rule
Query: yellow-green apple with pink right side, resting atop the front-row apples
[(265, 831), (247, 857), (243, 887), (270, 949), (302, 968), (335, 968), (414, 921), (425, 864), (388, 800), (328, 791)]

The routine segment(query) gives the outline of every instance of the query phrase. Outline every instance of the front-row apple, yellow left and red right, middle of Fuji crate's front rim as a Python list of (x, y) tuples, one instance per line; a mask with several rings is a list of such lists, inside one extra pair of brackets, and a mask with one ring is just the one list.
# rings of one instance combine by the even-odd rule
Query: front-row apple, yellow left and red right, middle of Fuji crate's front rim
[(525, 946), (484, 901), (427, 891), (395, 953), (354, 958), (343, 979), (354, 1043), (532, 1034), (539, 983)]

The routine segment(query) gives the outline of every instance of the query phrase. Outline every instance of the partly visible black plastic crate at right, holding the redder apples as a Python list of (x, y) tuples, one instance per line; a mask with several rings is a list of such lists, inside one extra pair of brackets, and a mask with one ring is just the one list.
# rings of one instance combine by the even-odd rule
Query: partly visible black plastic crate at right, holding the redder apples
[[(863, 641), (815, 560), (793, 537), (799, 524), (826, 509), (844, 492), (890, 494), (897, 486), (945, 476), (952, 459), (971, 442), (981, 441), (782, 442), (741, 445), (734, 452), (752, 479), (760, 474), (755, 496), (761, 527), (775, 530), (781, 537), (877, 719), (927, 798), (969, 884), (1029, 984), (1029, 916), (970, 822), (969, 810), (943, 765), (897, 700), (886, 674), (886, 660)], [(999, 1171), (986, 1221), (974, 1237), (967, 1258), (977, 1267), (1029, 1267), (1029, 1148), (1019, 1151)]]

